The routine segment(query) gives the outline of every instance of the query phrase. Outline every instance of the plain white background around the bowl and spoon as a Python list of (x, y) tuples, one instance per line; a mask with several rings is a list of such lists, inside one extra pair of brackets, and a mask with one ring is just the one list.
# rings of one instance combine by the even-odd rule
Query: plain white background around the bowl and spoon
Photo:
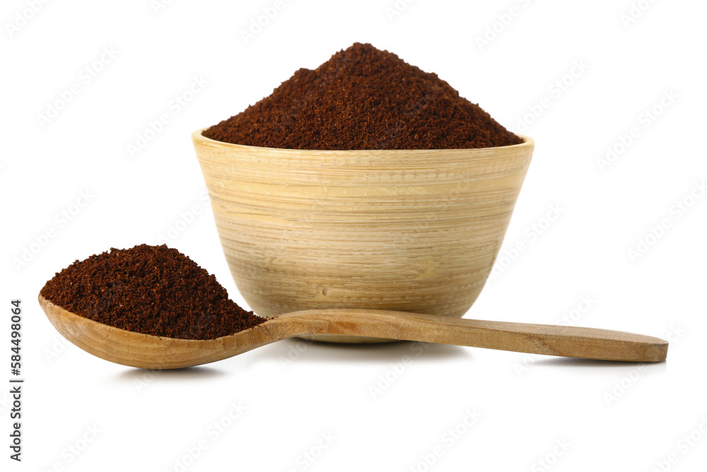
[[(629, 0), (418, 0), (392, 18), (393, 0), (291, 0), (247, 44), (242, 30), (274, 0), (182, 0), (158, 11), (150, 0), (49, 1), (36, 13), (29, 3), (5, 0), (0, 14), (0, 379), (10, 377), (15, 297), (26, 379), (21, 464), (8, 459), (11, 407), (0, 389), (2, 470), (703, 470), (704, 2), (643, 0), (626, 24)], [(497, 33), (483, 45), (487, 28)], [(45, 281), (110, 247), (157, 244), (194, 210), (170, 245), (244, 303), (201, 198), (189, 134), (356, 41), (438, 73), (536, 141), (497, 276), (467, 317), (670, 338), (667, 362), (286, 341), (153, 373), (63, 341), (36, 302)], [(90, 83), (87, 66), (102, 69)], [(170, 102), (194, 77), (208, 85), (176, 113)], [(38, 115), (74, 83), (78, 95), (42, 126)], [(660, 105), (664, 94), (672, 98)], [(539, 117), (527, 116), (539, 106)], [(646, 121), (654, 107), (660, 115)], [(129, 155), (163, 113), (170, 122)], [(621, 151), (633, 127), (637, 137), (601, 167), (607, 146)], [(88, 204), (74, 207), (86, 191)], [(561, 215), (547, 225), (551, 206)], [(62, 211), (75, 214), (63, 220)], [(650, 237), (662, 220), (667, 229)], [(54, 237), (33, 245), (47, 230)], [(518, 242), (527, 249), (514, 256)], [(17, 264), (25, 249), (36, 254)], [(245, 411), (232, 420), (239, 404)], [(218, 435), (214, 422), (226, 425)]]

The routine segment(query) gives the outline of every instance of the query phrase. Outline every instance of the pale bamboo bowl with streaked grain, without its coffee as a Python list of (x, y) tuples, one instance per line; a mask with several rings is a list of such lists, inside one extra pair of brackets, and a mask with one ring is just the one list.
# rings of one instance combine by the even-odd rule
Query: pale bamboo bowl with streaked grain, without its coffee
[(499, 148), (308, 151), (202, 131), (192, 141), (223, 252), (265, 317), (317, 308), (462, 317), (491, 272), (534, 147), (519, 135)]

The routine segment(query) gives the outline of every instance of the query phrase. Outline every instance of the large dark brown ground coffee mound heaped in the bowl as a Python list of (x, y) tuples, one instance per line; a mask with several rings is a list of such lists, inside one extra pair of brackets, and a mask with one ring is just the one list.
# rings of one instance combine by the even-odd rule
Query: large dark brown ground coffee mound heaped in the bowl
[(226, 143), (292, 149), (462, 149), (522, 141), (438, 78), (356, 43), (211, 126)]

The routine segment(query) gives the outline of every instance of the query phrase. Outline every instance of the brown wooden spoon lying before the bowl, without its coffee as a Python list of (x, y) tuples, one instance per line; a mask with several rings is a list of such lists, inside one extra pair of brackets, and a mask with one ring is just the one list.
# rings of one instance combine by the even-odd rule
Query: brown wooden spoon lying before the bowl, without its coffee
[(125, 331), (66, 311), (40, 295), (54, 328), (86, 352), (122, 365), (179, 369), (230, 358), (281, 339), (342, 334), (456, 344), (569, 358), (661, 362), (667, 341), (607, 329), (507, 323), (382, 309), (310, 309), (230, 336), (199, 341)]

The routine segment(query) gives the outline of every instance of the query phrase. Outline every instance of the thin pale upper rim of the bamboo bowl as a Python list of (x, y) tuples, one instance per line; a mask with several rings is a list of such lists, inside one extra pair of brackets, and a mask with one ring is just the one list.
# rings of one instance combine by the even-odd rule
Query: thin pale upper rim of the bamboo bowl
[(491, 148), (444, 148), (444, 149), (294, 149), (294, 148), (264, 148), (261, 146), (247, 146), (246, 144), (234, 144), (226, 143), (225, 141), (217, 141), (216, 139), (207, 138), (204, 136), (204, 131), (211, 128), (211, 126), (206, 126), (205, 128), (197, 129), (192, 133), (192, 141), (194, 143), (220, 146), (221, 148), (230, 148), (233, 151), (248, 151), (248, 150), (262, 150), (269, 151), (270, 153), (307, 153), (312, 155), (318, 155), (321, 157), (337, 156), (342, 157), (346, 155), (386, 155), (386, 154), (397, 154), (397, 153), (414, 153), (414, 154), (429, 154), (429, 153), (440, 153), (449, 154), (450, 157), (454, 155), (460, 155), (464, 153), (464, 157), (469, 157), (469, 154), (476, 155), (488, 155), (489, 153), (498, 153), (501, 150), (517, 149), (518, 151), (524, 148), (534, 148), (535, 141), (530, 138), (530, 136), (525, 136), (524, 134), (513, 133), (522, 139), (522, 143), (511, 144), (510, 146), (495, 146)]

